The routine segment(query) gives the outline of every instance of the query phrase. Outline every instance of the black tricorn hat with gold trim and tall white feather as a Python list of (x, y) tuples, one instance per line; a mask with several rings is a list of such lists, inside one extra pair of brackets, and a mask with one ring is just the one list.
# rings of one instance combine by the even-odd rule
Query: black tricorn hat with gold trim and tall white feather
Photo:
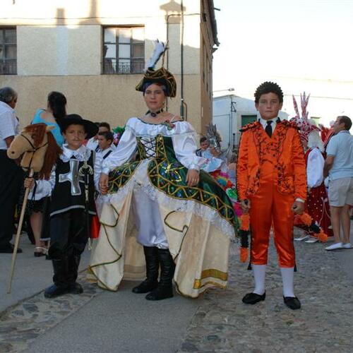
[(155, 41), (155, 49), (145, 66), (145, 75), (136, 86), (136, 90), (144, 92), (145, 88), (147, 88), (148, 85), (152, 85), (152, 83), (159, 83), (160, 85), (164, 85), (164, 87), (166, 88), (168, 97), (175, 97), (177, 95), (177, 82), (175, 81), (175, 78), (172, 73), (170, 73), (163, 67), (164, 63), (162, 62), (161, 68), (155, 70), (155, 65), (157, 64), (157, 61), (160, 59), (161, 56), (164, 59), (164, 54), (167, 49), (167, 44), (164, 44), (159, 40)]

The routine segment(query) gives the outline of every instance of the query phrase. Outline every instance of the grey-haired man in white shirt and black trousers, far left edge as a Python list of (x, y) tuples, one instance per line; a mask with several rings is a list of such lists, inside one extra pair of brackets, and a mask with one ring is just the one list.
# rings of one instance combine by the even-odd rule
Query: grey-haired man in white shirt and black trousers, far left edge
[[(18, 119), (13, 110), (17, 93), (10, 87), (0, 89), (0, 253), (13, 253), (13, 217), (23, 183), (23, 172), (6, 150), (18, 134)], [(18, 253), (22, 250), (18, 249)]]

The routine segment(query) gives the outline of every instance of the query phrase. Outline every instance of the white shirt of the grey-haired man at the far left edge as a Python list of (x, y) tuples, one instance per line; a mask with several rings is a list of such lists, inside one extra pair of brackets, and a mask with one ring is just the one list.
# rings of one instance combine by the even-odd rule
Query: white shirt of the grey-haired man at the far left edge
[(7, 150), (5, 138), (18, 135), (19, 127), (15, 111), (8, 104), (0, 102), (0, 150)]

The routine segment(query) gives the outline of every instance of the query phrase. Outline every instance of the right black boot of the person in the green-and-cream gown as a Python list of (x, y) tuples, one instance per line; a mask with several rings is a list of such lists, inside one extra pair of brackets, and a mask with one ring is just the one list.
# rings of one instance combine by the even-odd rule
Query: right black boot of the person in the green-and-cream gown
[(160, 260), (160, 282), (156, 289), (146, 295), (147, 300), (162, 300), (173, 297), (172, 280), (175, 264), (169, 249), (158, 249), (158, 258)]

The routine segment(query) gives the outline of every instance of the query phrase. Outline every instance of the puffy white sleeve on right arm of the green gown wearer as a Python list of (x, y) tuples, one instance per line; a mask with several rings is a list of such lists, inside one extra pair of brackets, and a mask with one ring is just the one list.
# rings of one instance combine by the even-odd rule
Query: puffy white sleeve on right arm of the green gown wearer
[(174, 147), (174, 152), (177, 157), (177, 160), (188, 169), (200, 170), (206, 160), (203, 157), (196, 155), (196, 141), (194, 138), (195, 131), (192, 126), (183, 121), (178, 124), (187, 124), (185, 126), (186, 131), (184, 133), (177, 133), (172, 136), (172, 142)]

